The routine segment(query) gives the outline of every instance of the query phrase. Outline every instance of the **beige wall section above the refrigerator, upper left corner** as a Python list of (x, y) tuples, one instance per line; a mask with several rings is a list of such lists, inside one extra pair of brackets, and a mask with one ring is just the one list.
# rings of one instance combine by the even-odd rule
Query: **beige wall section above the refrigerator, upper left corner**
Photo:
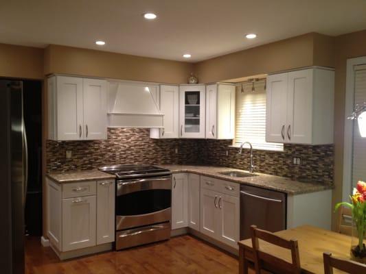
[(0, 77), (43, 79), (43, 49), (0, 44)]

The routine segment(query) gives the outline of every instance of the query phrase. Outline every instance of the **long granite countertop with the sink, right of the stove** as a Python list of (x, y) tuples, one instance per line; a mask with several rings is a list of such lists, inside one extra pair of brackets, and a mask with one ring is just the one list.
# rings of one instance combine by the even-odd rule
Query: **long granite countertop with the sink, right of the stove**
[[(286, 177), (268, 175), (263, 173), (255, 173), (254, 177), (229, 177), (219, 174), (223, 171), (242, 171), (240, 169), (231, 169), (222, 166), (187, 166), (187, 165), (159, 165), (165, 169), (169, 169), (172, 173), (196, 173), (198, 175), (206, 175), (217, 179), (236, 182), (239, 184), (247, 184), (249, 186), (258, 186), (270, 190), (285, 192), (289, 195), (299, 195), (309, 192), (317, 192), (321, 190), (332, 189), (333, 186), (320, 182), (298, 182)], [(242, 171), (247, 172), (247, 171)]]

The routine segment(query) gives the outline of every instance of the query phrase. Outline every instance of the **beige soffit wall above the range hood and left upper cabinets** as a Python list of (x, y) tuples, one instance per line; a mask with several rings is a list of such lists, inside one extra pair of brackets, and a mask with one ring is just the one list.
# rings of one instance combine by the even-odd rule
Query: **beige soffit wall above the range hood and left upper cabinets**
[(134, 55), (50, 45), (45, 74), (65, 73), (162, 83), (186, 83), (193, 64)]

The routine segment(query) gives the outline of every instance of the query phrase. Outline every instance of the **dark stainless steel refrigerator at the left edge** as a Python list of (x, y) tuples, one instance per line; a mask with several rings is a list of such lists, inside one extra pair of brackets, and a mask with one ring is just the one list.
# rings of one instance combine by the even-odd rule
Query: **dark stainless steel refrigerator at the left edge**
[(27, 138), (23, 84), (0, 79), (0, 272), (24, 273)]

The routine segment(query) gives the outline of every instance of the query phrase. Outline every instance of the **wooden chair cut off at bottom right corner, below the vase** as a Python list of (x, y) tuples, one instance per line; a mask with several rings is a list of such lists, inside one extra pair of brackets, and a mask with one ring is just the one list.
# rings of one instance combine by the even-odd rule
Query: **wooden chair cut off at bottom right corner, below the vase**
[(325, 274), (333, 274), (333, 268), (350, 274), (366, 273), (366, 264), (360, 264), (350, 260), (337, 259), (332, 257), (331, 253), (323, 253), (323, 260)]

